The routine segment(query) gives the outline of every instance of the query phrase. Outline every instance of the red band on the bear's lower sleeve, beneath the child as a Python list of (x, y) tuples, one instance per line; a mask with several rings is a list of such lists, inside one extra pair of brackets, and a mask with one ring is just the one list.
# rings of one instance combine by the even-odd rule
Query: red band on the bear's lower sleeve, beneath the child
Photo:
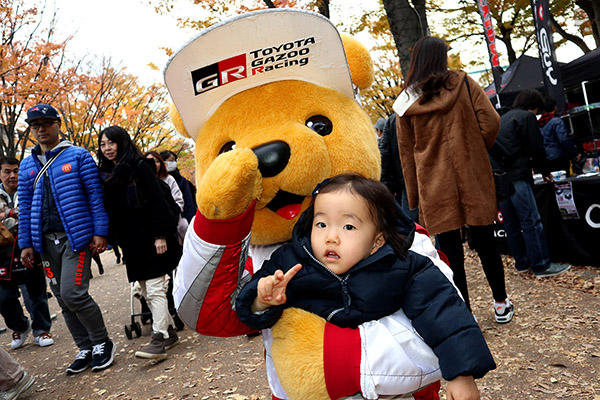
[(359, 393), (360, 331), (325, 324), (323, 339), (323, 369), (325, 386), (332, 399)]

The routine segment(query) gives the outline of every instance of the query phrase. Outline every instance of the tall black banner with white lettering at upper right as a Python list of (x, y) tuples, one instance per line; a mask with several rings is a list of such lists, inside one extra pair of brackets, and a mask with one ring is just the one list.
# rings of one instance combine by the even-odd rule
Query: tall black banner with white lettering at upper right
[(535, 33), (540, 52), (540, 63), (544, 75), (544, 86), (550, 97), (556, 100), (559, 114), (565, 109), (563, 84), (556, 62), (554, 41), (552, 40), (552, 24), (550, 23), (550, 6), (548, 0), (531, 0)]

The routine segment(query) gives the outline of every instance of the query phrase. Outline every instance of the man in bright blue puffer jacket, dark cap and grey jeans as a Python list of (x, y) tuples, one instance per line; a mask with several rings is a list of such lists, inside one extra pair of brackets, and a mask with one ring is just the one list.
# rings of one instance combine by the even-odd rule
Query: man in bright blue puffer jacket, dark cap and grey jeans
[(27, 110), (38, 145), (21, 162), (19, 246), (31, 268), (40, 253), (50, 287), (79, 353), (68, 374), (109, 367), (115, 346), (100, 308), (88, 293), (92, 253), (106, 250), (108, 216), (98, 168), (87, 150), (60, 140), (60, 116), (51, 106)]

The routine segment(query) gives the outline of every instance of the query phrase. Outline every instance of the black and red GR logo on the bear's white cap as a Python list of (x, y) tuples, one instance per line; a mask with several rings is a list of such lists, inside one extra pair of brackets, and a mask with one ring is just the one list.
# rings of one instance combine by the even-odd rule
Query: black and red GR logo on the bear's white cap
[(192, 71), (194, 94), (197, 96), (244, 78), (246, 78), (246, 54), (240, 54)]

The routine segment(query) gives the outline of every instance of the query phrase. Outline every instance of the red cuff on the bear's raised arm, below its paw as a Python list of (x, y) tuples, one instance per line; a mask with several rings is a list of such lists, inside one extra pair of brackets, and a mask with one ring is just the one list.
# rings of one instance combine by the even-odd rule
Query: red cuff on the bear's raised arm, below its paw
[(241, 242), (252, 227), (255, 205), (256, 200), (241, 215), (229, 219), (208, 219), (197, 210), (194, 231), (208, 243), (228, 245)]

